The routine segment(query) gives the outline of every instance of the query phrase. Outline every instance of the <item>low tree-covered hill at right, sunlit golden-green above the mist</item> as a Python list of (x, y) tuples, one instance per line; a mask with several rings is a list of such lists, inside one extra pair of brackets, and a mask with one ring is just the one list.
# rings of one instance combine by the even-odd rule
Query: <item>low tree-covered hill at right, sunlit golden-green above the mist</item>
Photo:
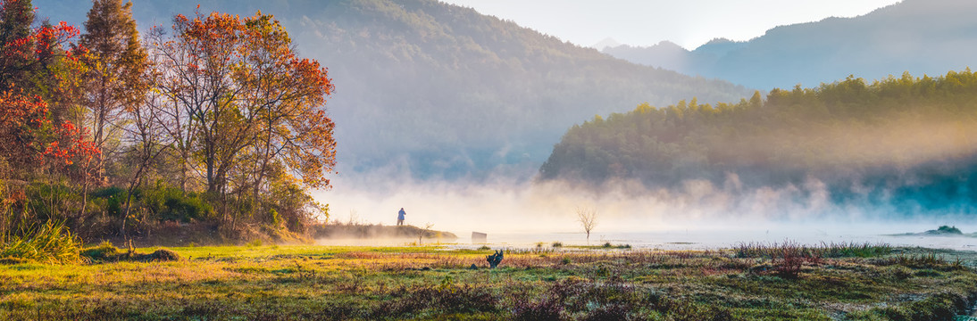
[(682, 100), (573, 126), (540, 168), (543, 180), (591, 186), (638, 179), (729, 192), (825, 184), (829, 198), (902, 208), (977, 204), (977, 73), (756, 93), (737, 103)]

